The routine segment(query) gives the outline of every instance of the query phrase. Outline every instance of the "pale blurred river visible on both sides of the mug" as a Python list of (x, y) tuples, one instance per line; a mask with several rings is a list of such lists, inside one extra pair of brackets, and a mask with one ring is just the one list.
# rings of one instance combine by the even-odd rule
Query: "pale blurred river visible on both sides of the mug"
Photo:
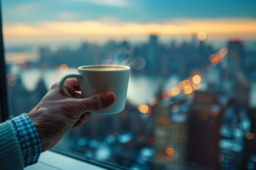
[[(33, 68), (21, 71), (20, 76), (24, 87), (28, 91), (33, 91), (40, 77), (43, 78), (45, 85), (49, 89), (51, 85), (58, 82), (63, 75), (72, 72), (78, 72), (77, 68), (69, 68), (65, 72), (61, 72), (59, 69), (41, 71)], [(177, 76), (171, 76), (166, 79), (160, 76), (131, 75), (127, 99), (134, 104), (148, 103), (150, 99), (155, 97), (161, 84), (163, 84), (164, 90), (168, 90), (168, 88), (177, 85), (179, 81)]]

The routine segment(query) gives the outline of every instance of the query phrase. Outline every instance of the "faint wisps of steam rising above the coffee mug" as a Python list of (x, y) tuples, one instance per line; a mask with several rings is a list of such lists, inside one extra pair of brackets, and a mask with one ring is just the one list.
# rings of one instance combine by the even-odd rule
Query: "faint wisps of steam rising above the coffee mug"
[(140, 70), (146, 66), (146, 60), (143, 57), (134, 55), (134, 49), (120, 48), (109, 52), (102, 64), (125, 65)]

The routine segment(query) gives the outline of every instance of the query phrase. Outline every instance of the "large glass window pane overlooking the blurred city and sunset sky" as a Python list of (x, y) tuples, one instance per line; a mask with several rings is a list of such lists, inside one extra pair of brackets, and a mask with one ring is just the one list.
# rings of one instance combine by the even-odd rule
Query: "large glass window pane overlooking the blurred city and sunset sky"
[(10, 118), (82, 65), (131, 67), (125, 109), (55, 147), (131, 170), (256, 167), (256, 1), (2, 0)]

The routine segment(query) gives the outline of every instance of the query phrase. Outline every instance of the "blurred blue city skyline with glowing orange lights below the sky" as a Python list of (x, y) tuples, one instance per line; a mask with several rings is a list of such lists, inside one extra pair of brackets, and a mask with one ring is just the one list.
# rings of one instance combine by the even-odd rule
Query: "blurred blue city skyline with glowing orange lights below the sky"
[[(153, 92), (153, 98), (148, 97), (149, 102), (133, 102), (127, 96), (126, 108), (120, 114), (92, 114), (87, 123), (64, 136), (56, 149), (139, 170), (190, 169), (190, 165), (197, 169), (244, 170), (254, 166), (251, 159), (255, 152), (251, 151), (255, 123), (251, 126), (251, 116), (256, 110), (249, 101), (256, 94), (252, 79), (255, 52), (244, 50), (246, 44), (242, 41), (229, 41), (227, 48), (214, 51), (204, 41), (196, 43), (197, 38), (192, 43), (169, 47), (160, 46), (157, 35), (149, 39), (144, 46), (134, 47), (135, 56), (145, 56), (146, 65), (138, 70), (132, 68), (137, 79), (132, 91), (139, 99)], [(11, 115), (30, 110), (49, 89), (48, 78), (59, 80), (55, 71), (65, 73), (79, 63), (122, 59), (124, 56), (118, 53), (117, 58), (106, 61), (108, 58), (102, 54), (111, 49), (130, 49), (126, 41), (95, 47), (86, 42), (76, 51), (41, 47), (39, 60), (6, 63)], [(220, 63), (224, 55), (230, 67)], [(36, 70), (38, 81), (32, 78)], [(172, 75), (178, 77), (176, 83), (168, 80)], [(184, 80), (187, 75), (193, 76)], [(25, 83), (32, 82), (35, 88), (29, 91)], [(170, 87), (168, 91), (164, 91), (166, 85)], [(90, 131), (84, 133), (84, 129)], [(246, 159), (239, 157), (243, 153), (248, 154)]]

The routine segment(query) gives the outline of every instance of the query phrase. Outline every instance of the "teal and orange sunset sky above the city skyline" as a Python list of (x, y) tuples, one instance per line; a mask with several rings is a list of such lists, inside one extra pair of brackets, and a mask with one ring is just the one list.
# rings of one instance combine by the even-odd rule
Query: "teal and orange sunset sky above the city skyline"
[(4, 41), (256, 40), (256, 0), (2, 0)]

